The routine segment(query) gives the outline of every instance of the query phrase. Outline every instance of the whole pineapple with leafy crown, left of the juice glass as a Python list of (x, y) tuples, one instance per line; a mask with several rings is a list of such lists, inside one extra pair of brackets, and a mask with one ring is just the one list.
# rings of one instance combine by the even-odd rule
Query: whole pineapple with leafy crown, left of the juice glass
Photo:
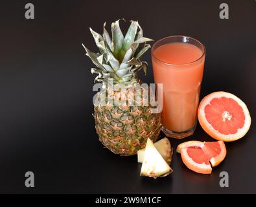
[[(150, 49), (137, 21), (131, 21), (123, 36), (119, 20), (111, 24), (112, 37), (104, 23), (101, 36), (91, 28), (99, 53), (87, 49), (86, 55), (96, 65), (95, 81), (102, 82), (94, 108), (95, 128), (102, 144), (119, 155), (135, 155), (150, 138), (157, 140), (161, 130), (161, 113), (152, 113), (150, 90), (143, 87), (137, 72), (146, 72), (146, 62), (141, 56)], [(111, 101), (112, 100), (112, 101)], [(120, 102), (124, 100), (124, 102)], [(156, 106), (155, 106), (156, 107)]]

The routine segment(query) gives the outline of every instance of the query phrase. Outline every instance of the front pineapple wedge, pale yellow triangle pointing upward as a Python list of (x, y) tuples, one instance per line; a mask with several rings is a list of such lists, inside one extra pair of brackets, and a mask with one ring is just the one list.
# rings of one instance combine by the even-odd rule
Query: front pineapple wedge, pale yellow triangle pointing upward
[(145, 156), (141, 167), (141, 176), (157, 177), (167, 176), (172, 173), (172, 168), (165, 162), (163, 157), (157, 151), (152, 140), (146, 141)]

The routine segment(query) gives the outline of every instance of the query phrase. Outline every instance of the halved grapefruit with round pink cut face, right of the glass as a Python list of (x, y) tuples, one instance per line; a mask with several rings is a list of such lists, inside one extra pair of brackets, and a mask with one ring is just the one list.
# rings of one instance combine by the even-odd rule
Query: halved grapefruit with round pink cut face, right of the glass
[(242, 138), (251, 125), (246, 104), (234, 94), (224, 91), (211, 93), (202, 99), (198, 120), (208, 135), (225, 142)]

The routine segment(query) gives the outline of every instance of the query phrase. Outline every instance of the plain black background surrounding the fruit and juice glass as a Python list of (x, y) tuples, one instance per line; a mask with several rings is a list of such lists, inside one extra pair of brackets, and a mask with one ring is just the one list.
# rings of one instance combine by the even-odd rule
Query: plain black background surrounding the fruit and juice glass
[[(25, 19), (25, 4), (35, 19)], [(219, 18), (228, 3), (229, 19)], [(148, 38), (187, 35), (206, 47), (201, 96), (227, 91), (250, 109), (251, 129), (228, 143), (211, 175), (196, 174), (173, 155), (174, 173), (139, 177), (137, 157), (120, 157), (95, 133), (93, 66), (81, 43), (95, 51), (89, 27), (102, 33), (116, 19), (139, 20)], [(256, 1), (1, 1), (0, 193), (255, 193)], [(125, 23), (121, 23), (126, 28)], [(148, 76), (153, 83), (150, 52)], [(163, 135), (161, 135), (163, 137)], [(213, 140), (198, 124), (187, 140)], [(25, 187), (25, 172), (35, 188)], [(220, 188), (219, 173), (229, 173)]]

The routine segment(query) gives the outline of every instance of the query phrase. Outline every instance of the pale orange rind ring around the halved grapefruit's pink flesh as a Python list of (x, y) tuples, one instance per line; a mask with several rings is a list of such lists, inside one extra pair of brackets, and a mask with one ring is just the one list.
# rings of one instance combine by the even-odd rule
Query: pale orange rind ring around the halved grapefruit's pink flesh
[[(211, 124), (209, 124), (209, 122), (207, 121), (207, 119), (205, 117), (205, 111), (204, 111), (205, 106), (208, 105), (211, 102), (211, 100), (213, 100), (213, 98), (221, 98), (221, 97), (232, 98), (237, 103), (239, 103), (239, 105), (243, 109), (244, 116), (245, 116), (244, 126), (240, 129), (238, 129), (237, 133), (235, 133), (235, 134), (224, 135), (224, 134), (220, 133)], [(200, 102), (200, 105), (198, 107), (198, 120), (199, 120), (200, 125), (202, 126), (202, 128), (208, 135), (215, 138), (216, 140), (223, 140), (224, 142), (233, 142), (235, 140), (239, 140), (244, 135), (246, 135), (246, 133), (250, 129), (250, 125), (251, 125), (251, 116), (250, 116), (250, 113), (248, 111), (246, 104), (244, 102), (242, 102), (242, 100), (240, 100), (240, 98), (238, 98), (234, 94), (227, 93), (224, 91), (218, 91), (218, 92), (211, 93), (202, 99), (202, 101)]]

